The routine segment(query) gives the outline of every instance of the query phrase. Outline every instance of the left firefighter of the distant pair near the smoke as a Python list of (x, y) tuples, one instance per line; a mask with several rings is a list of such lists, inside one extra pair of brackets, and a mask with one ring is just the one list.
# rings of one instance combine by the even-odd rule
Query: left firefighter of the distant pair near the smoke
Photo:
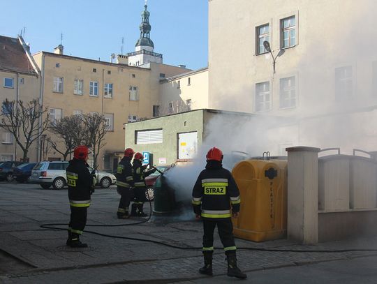
[(119, 201), (117, 216), (119, 219), (129, 218), (128, 207), (131, 202), (131, 195), (133, 190), (133, 177), (132, 177), (132, 165), (131, 160), (135, 151), (131, 148), (124, 150), (124, 157), (117, 167), (117, 193), (121, 195)]

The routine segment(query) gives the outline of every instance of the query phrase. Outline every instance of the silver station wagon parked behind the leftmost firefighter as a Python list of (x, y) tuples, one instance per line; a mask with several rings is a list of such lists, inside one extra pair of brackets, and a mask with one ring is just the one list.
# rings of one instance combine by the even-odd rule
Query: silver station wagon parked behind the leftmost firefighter
[[(44, 161), (38, 163), (34, 169), (31, 171), (31, 176), (29, 181), (32, 184), (39, 184), (42, 188), (50, 188), (52, 186), (54, 189), (64, 188), (67, 184), (66, 168), (68, 167), (68, 161)], [(94, 169), (89, 167), (89, 171)], [(99, 172), (96, 170), (97, 174), (97, 184), (96, 186), (101, 186), (101, 188), (108, 188), (110, 185), (115, 184), (117, 179), (114, 174), (108, 172)]]

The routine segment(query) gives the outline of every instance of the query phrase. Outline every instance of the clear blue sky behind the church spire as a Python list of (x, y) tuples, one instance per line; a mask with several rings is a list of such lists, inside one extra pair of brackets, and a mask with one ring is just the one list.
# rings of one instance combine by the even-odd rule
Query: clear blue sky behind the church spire
[[(135, 51), (145, 0), (1, 1), (0, 35), (24, 32), (31, 53), (53, 52), (110, 61), (110, 54)], [(163, 63), (190, 69), (207, 66), (208, 1), (148, 0), (154, 52)], [(8, 11), (8, 13), (4, 13)]]

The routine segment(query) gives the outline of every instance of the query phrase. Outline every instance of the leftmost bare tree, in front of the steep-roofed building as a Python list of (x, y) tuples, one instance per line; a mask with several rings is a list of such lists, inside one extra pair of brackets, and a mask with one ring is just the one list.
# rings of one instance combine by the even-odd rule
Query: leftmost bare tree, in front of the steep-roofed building
[[(22, 100), (3, 100), (0, 127), (15, 137), (16, 143), (23, 151), (22, 160), (24, 161), (27, 161), (31, 144), (47, 130), (48, 116), (43, 120), (43, 114), (47, 110), (47, 107), (43, 108), (35, 99), (27, 104), (24, 104)], [(40, 121), (42, 121), (41, 124)]]

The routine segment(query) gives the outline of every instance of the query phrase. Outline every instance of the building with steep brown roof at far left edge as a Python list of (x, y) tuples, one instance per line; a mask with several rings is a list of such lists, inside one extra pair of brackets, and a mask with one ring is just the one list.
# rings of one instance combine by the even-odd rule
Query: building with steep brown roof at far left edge
[[(22, 38), (0, 36), (0, 100), (22, 100), (25, 103), (39, 99), (39, 70)], [(0, 162), (20, 160), (23, 152), (15, 137), (0, 128)], [(38, 160), (38, 143), (31, 145), (29, 160)]]

